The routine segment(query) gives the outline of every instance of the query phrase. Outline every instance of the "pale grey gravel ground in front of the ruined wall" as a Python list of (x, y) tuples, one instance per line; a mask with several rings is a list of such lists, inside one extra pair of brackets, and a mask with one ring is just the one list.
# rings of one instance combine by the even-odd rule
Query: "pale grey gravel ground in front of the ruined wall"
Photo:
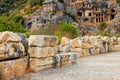
[(120, 80), (120, 52), (79, 58), (76, 64), (28, 73), (19, 80)]

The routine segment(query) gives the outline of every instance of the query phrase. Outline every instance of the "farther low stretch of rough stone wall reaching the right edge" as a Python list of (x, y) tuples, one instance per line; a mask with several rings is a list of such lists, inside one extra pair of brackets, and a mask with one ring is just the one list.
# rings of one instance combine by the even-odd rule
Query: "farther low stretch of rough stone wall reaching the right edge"
[(58, 51), (74, 52), (77, 57), (120, 51), (120, 38), (84, 36), (75, 39), (62, 38)]

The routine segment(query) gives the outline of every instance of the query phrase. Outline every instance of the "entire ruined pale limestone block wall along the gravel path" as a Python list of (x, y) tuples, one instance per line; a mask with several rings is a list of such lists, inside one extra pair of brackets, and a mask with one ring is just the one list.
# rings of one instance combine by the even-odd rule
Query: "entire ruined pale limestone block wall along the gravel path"
[(59, 68), (74, 63), (77, 57), (120, 51), (120, 38), (84, 36), (63, 37), (57, 45), (56, 36), (0, 33), (0, 80), (12, 80), (26, 72)]

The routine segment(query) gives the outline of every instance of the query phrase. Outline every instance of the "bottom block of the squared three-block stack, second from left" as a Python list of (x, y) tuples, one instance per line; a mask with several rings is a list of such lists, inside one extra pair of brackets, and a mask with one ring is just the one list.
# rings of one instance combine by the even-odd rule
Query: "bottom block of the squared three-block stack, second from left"
[(30, 70), (31, 71), (39, 71), (42, 69), (52, 68), (52, 64), (54, 63), (53, 57), (47, 58), (30, 58)]

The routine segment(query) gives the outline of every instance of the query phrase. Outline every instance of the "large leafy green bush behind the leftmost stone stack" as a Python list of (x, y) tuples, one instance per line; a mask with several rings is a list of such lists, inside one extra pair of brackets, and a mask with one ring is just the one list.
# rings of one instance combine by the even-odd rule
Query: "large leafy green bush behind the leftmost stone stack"
[(12, 31), (25, 33), (27, 30), (22, 25), (23, 18), (21, 16), (14, 15), (8, 19), (5, 16), (0, 17), (0, 32)]

